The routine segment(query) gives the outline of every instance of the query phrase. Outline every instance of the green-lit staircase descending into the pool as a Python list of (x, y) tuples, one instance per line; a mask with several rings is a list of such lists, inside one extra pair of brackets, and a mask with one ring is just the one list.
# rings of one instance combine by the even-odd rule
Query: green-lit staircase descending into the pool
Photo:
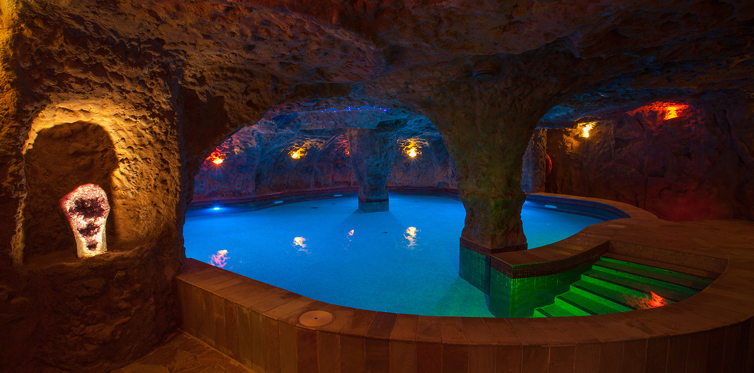
[[(715, 277), (703, 271), (697, 271), (703, 277), (667, 271), (639, 264), (638, 258), (608, 255), (592, 264), (567, 292), (557, 295), (553, 304), (536, 308), (533, 316), (588, 316), (658, 307), (691, 297)], [(633, 259), (638, 260), (627, 261)]]

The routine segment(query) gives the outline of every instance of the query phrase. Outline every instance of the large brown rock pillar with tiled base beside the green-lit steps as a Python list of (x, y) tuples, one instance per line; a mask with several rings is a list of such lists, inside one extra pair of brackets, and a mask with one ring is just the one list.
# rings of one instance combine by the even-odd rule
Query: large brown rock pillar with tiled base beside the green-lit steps
[[(503, 68), (515, 64), (502, 63)], [(524, 250), (521, 170), (537, 123), (549, 109), (549, 84), (510, 80), (450, 81), (427, 100), (428, 118), (443, 135), (458, 172), (466, 209), (461, 231), (459, 276), (489, 294), (490, 257)], [(492, 297), (492, 295), (490, 295)], [(492, 299), (492, 298), (491, 298)]]

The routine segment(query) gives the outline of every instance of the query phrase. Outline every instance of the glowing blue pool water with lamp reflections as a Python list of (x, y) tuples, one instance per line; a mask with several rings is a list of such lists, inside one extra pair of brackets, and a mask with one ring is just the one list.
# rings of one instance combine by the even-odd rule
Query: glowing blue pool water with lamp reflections
[[(525, 203), (529, 248), (602, 222)], [(464, 207), (446, 197), (392, 195), (389, 212), (355, 197), (256, 211), (205, 208), (186, 217), (186, 256), (309, 298), (366, 310), (489, 316), (486, 296), (458, 277)], [(223, 252), (223, 250), (225, 250)]]

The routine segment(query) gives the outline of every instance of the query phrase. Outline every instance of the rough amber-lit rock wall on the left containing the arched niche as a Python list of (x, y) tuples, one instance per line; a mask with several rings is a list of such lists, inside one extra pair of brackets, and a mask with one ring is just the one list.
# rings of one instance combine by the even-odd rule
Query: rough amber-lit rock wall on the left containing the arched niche
[[(109, 371), (176, 327), (175, 69), (157, 43), (4, 7), (24, 32), (2, 49), (0, 370)], [(87, 182), (109, 195), (109, 252), (78, 259), (58, 200)]]

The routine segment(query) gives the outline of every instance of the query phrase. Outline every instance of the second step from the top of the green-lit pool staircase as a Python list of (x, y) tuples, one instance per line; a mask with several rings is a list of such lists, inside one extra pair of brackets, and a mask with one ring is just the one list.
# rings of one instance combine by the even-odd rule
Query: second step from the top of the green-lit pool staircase
[(646, 297), (649, 292), (654, 292), (654, 294), (674, 302), (682, 301), (697, 293), (694, 290), (670, 283), (647, 283), (647, 281), (635, 280), (599, 270), (587, 271), (587, 273), (581, 275), (581, 280), (616, 289), (633, 297)]

